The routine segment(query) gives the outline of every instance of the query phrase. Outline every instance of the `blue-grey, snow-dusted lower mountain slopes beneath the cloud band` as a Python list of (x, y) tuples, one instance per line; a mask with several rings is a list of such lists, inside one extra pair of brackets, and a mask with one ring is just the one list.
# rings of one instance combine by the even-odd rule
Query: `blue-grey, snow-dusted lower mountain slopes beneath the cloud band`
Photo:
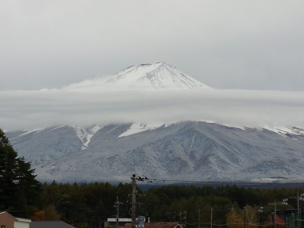
[(141, 131), (143, 126), (94, 130), (85, 150), (85, 134), (79, 137), (71, 126), (7, 135), (19, 156), (32, 161), (40, 180), (113, 181), (115, 176), (123, 181), (134, 172), (182, 180), (303, 180), (303, 129), (282, 135), (193, 121), (149, 124)]

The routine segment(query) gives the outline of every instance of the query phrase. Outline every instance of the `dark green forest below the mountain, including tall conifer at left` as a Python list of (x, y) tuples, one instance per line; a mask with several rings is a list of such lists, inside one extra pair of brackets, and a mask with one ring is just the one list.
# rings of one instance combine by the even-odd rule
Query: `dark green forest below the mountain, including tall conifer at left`
[[(118, 197), (123, 203), (120, 217), (130, 218), (130, 183), (39, 183), (35, 180), (30, 163), (13, 150), (0, 129), (0, 210), (13, 216), (33, 220), (63, 220), (75, 227), (98, 227), (107, 218), (115, 217), (113, 207)], [(249, 224), (271, 226), (269, 216), (276, 200), (278, 223), (284, 222), (282, 200), (303, 193), (299, 188), (244, 188), (238, 186), (181, 186), (146, 184), (137, 182), (136, 213), (150, 217), (151, 222), (179, 221), (187, 227), (210, 227), (212, 223), (225, 227), (244, 227), (244, 207), (247, 205), (245, 221)], [(258, 209), (263, 206), (263, 212)], [(300, 202), (302, 208), (304, 203)], [(232, 210), (233, 208), (233, 210)], [(289, 199), (286, 209), (297, 208), (297, 201)], [(200, 212), (198, 212), (200, 211)], [(180, 214), (181, 213), (181, 214)], [(232, 213), (233, 223), (232, 226)], [(200, 215), (200, 216), (199, 216)], [(186, 217), (186, 219), (185, 219)], [(290, 216), (288, 219), (294, 220)], [(292, 220), (293, 219), (293, 220)], [(302, 217), (301, 217), (302, 219)], [(199, 223), (200, 222), (200, 223)], [(206, 223), (206, 224), (204, 224)], [(214, 226), (216, 226), (214, 225)], [(294, 225), (291, 224), (291, 225)], [(302, 227), (304, 224), (300, 224)], [(217, 226), (219, 227), (219, 226)], [(256, 227), (256, 226), (255, 226)], [(267, 226), (265, 226), (267, 227)], [(294, 226), (290, 226), (292, 228)], [(288, 226), (289, 228), (289, 226)]]

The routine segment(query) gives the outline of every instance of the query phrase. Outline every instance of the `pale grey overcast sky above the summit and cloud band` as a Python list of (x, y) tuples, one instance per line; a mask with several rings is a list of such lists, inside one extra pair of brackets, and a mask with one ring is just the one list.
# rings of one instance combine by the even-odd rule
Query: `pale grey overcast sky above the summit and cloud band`
[(2, 0), (0, 33), (0, 90), (158, 61), (214, 88), (304, 90), (304, 1)]

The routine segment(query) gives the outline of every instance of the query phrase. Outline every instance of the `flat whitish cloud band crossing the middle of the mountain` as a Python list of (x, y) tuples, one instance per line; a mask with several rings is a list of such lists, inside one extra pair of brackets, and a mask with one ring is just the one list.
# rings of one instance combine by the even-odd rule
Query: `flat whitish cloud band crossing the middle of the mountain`
[(304, 92), (182, 90), (0, 92), (0, 128), (212, 121), (231, 126), (304, 126)]

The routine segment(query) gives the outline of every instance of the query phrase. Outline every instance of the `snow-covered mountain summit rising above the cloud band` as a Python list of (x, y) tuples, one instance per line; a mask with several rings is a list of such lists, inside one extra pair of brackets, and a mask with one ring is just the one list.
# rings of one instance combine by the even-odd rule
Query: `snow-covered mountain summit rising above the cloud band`
[(85, 80), (65, 89), (77, 91), (102, 90), (179, 90), (210, 88), (200, 81), (183, 74), (164, 62), (130, 66), (110, 77)]

